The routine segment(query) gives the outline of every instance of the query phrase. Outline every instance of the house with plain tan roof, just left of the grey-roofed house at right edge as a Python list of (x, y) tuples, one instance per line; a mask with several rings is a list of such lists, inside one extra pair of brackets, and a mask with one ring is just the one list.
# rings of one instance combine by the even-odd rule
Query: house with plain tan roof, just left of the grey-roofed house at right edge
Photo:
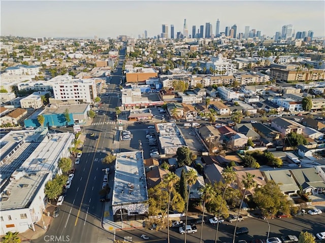
[(279, 185), (280, 190), (286, 195), (293, 195), (299, 192), (299, 187), (288, 169), (273, 169), (262, 171), (265, 180), (274, 181)]

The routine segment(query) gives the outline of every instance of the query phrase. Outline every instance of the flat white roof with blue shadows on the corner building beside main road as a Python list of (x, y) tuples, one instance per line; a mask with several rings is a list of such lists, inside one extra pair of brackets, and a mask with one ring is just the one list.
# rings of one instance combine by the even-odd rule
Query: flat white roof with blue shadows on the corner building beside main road
[(116, 154), (112, 205), (148, 200), (142, 152)]

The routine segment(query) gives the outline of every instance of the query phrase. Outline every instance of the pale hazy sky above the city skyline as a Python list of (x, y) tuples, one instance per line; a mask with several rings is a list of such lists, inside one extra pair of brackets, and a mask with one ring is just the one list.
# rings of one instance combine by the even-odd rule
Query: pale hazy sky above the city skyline
[[(3, 1), (1, 35), (22, 37), (116, 38), (120, 34), (148, 37), (161, 33), (161, 24), (188, 33), (206, 22), (215, 33), (237, 25), (237, 33), (250, 29), (274, 36), (282, 26), (293, 24), (297, 31), (314, 31), (325, 36), (325, 1)], [(205, 29), (205, 27), (204, 27)], [(205, 30), (204, 30), (205, 31)]]

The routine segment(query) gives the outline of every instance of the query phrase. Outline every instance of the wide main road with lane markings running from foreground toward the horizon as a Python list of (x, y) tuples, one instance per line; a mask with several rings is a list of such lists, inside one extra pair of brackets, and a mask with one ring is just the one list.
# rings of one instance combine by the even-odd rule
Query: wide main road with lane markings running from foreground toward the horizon
[[(125, 49), (120, 51), (122, 56)], [(121, 75), (123, 58), (120, 58), (119, 65), (113, 73), (110, 85), (106, 92), (118, 92)], [(104, 92), (104, 93), (106, 93)], [(104, 203), (100, 199), (100, 190), (102, 189), (104, 171), (106, 167), (113, 170), (113, 165), (105, 165), (101, 159), (106, 156), (113, 148), (113, 137), (115, 124), (107, 124), (114, 121), (114, 115), (110, 114), (115, 111), (118, 105), (118, 97), (109, 95), (102, 99), (100, 110), (103, 115), (96, 116), (92, 124), (84, 128), (86, 140), (82, 149), (80, 164), (75, 165), (76, 171), (67, 196), (64, 198), (63, 204), (60, 206), (59, 217), (53, 218), (46, 234), (32, 242), (45, 242), (51, 236), (56, 236), (58, 240), (51, 242), (62, 242), (69, 236), (69, 242), (107, 242), (107, 239), (113, 239), (111, 232), (107, 232), (102, 228), (102, 217), (104, 212)], [(70, 128), (63, 128), (62, 131), (70, 131)], [(90, 133), (99, 136), (99, 140), (90, 137)], [(109, 177), (113, 180), (113, 177)], [(46, 235), (50, 237), (44, 238)], [(61, 236), (61, 238), (60, 238)], [(48, 241), (48, 240), (47, 240)]]

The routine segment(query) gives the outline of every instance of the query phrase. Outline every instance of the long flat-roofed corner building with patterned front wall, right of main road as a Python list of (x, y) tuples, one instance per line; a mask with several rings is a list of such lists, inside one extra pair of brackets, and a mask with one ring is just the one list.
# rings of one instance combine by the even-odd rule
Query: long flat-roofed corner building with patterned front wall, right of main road
[(148, 209), (142, 151), (116, 154), (112, 196), (114, 222), (142, 219)]

